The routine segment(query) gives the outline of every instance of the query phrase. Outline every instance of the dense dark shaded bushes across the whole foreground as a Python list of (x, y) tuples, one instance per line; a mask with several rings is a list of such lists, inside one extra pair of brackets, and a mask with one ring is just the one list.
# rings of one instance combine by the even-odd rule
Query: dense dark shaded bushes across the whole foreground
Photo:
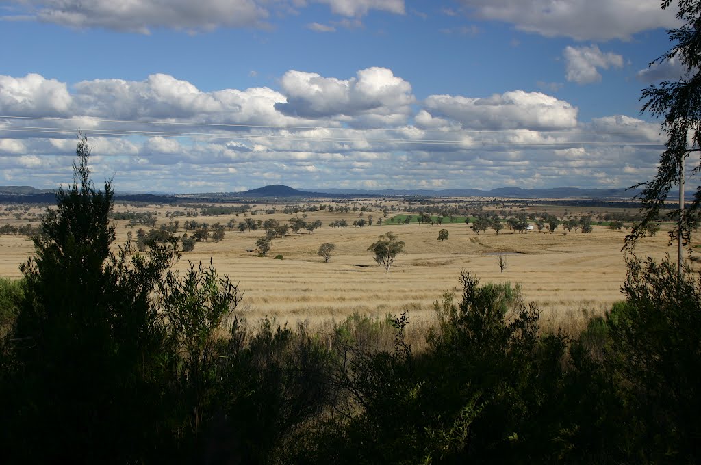
[(0, 280), (4, 463), (691, 463), (701, 281), (630, 261), (625, 302), (545, 333), (509, 284), (461, 275), (414, 352), (406, 314), (329, 333), (245, 324), (175, 242), (110, 251), (82, 139), (21, 282)]

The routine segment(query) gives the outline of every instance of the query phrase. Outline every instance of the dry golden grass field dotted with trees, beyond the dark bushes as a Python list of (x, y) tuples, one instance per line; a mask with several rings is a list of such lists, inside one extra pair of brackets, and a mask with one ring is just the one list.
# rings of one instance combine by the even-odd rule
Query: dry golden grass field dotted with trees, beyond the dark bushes
[[(170, 221), (165, 218), (165, 211), (172, 208), (139, 209), (159, 211), (160, 224)], [(118, 205), (116, 209), (125, 207)], [(537, 207), (533, 209), (538, 210)], [(324, 226), (313, 233), (290, 233), (283, 239), (273, 240), (267, 257), (247, 252), (247, 249), (254, 249), (257, 238), (264, 232), (227, 229), (222, 242), (197, 243), (194, 251), (183, 254), (176, 268), (184, 270), (189, 262), (209, 263), (211, 258), (220, 274), (230, 275), (245, 291), (243, 305), (247, 319), (257, 320), (268, 315), (278, 322), (308, 321), (311, 326), (339, 321), (353, 312), (383, 317), (388, 312), (397, 314), (407, 310), (414, 325), (425, 327), (435, 317), (433, 302), (440, 300), (444, 291), (456, 289), (463, 270), (474, 273), (482, 282), (510, 281), (522, 286), (526, 300), (540, 308), (546, 326), (576, 329), (584, 321), (585, 314), (604, 312), (611, 303), (622, 298), (620, 286), (625, 279), (625, 258), (620, 250), (625, 230), (595, 225), (590, 234), (569, 232), (563, 235), (562, 230), (519, 234), (505, 228), (498, 235), (494, 230), (477, 235), (465, 223), (383, 223), (354, 228), (352, 223), (358, 214), (310, 212), (307, 221), (319, 219)], [(374, 211), (366, 213), (365, 218), (367, 214), (375, 218), (382, 215)], [(252, 218), (273, 217), (287, 223), (292, 216), (295, 215), (258, 214)], [(226, 224), (231, 218), (236, 223), (245, 219), (228, 215), (199, 216), (196, 220)], [(346, 218), (351, 226), (334, 229), (327, 225), (341, 218)], [(182, 235), (184, 221), (195, 218), (175, 219), (180, 222), (179, 234)], [(0, 218), (0, 225), (3, 222), (27, 223), (25, 219), (8, 216)], [(125, 227), (128, 221), (114, 223), (116, 245), (122, 244), (132, 229)], [(441, 228), (449, 231), (445, 242), (437, 240)], [(386, 273), (376, 265), (367, 247), (390, 230), (406, 242), (407, 253), (398, 256)], [(668, 246), (667, 241), (663, 227), (657, 237), (639, 243), (637, 254), (657, 259), (669, 254), (675, 258), (676, 249)], [(324, 263), (316, 254), (323, 242), (336, 244), (329, 263)], [(18, 265), (27, 260), (32, 250), (32, 242), (25, 237), (0, 236), (0, 276), (19, 277)], [(500, 272), (496, 256), (500, 252), (507, 260), (504, 272)], [(273, 258), (278, 254), (284, 259)]]

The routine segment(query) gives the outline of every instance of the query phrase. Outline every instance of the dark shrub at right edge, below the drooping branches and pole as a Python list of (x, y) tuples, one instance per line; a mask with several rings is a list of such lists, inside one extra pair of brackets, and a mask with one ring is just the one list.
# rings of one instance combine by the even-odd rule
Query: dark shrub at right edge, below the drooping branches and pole
[(633, 259), (626, 303), (611, 312), (610, 363), (634, 412), (641, 461), (695, 461), (701, 452), (701, 278), (676, 263)]

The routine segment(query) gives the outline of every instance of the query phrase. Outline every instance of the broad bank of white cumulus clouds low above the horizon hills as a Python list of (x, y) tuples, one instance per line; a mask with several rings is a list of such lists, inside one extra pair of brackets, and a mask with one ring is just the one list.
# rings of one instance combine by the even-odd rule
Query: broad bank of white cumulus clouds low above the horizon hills
[(411, 84), (385, 68), (351, 78), (290, 70), (276, 90), (205, 92), (167, 74), (0, 82), (3, 111), (63, 112), (65, 119), (21, 125), (64, 134), (0, 122), (0, 176), (42, 188), (70, 181), (76, 127), (88, 133), (96, 179), (114, 175), (120, 189), (166, 191), (280, 179), (302, 188), (631, 186), (654, 174), (664, 142), (658, 124), (625, 115), (580, 122), (576, 106), (541, 92), (416, 102)]

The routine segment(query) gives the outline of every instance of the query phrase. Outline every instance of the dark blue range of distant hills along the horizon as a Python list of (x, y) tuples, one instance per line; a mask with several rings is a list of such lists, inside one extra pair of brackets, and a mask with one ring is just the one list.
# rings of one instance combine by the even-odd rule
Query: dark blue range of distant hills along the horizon
[[(299, 190), (290, 186), (275, 184), (245, 192), (203, 193), (187, 195), (156, 195), (151, 193), (116, 193), (116, 200), (124, 202), (144, 203), (175, 203), (192, 200), (222, 202), (226, 200), (245, 200), (256, 198), (310, 198), (310, 197), (510, 197), (518, 199), (592, 199), (592, 200), (632, 200), (639, 194), (638, 189), (580, 189), (580, 188), (551, 188), (524, 189), (503, 187), (492, 190), (479, 189), (334, 189), (316, 188)], [(0, 202), (2, 203), (53, 203), (53, 189), (35, 189), (31, 186), (0, 186)]]

